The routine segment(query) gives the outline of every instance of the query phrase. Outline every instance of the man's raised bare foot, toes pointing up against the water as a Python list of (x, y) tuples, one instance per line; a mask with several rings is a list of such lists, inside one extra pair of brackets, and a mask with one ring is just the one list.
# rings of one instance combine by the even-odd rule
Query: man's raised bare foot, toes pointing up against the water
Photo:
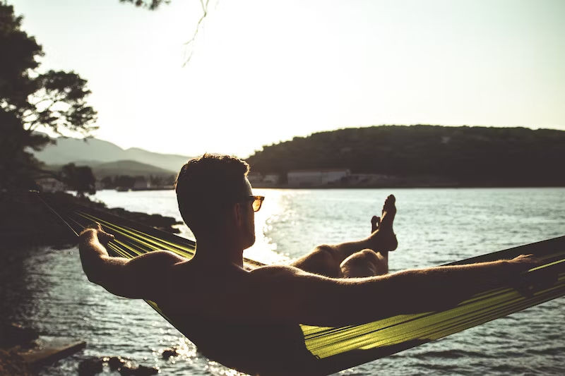
[(393, 195), (386, 198), (383, 205), (382, 217), (371, 218), (371, 243), (372, 250), (376, 252), (389, 252), (396, 250), (398, 241), (393, 230), (394, 217), (396, 216), (396, 198)]

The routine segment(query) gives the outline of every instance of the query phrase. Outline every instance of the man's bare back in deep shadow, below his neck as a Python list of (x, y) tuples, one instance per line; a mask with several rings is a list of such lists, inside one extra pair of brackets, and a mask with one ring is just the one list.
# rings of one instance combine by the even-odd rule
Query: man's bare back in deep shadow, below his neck
[(155, 303), (204, 356), (253, 375), (297, 374), (314, 363), (298, 323), (242, 317), (268, 301), (257, 296), (254, 273), (187, 261), (167, 279), (172, 287)]

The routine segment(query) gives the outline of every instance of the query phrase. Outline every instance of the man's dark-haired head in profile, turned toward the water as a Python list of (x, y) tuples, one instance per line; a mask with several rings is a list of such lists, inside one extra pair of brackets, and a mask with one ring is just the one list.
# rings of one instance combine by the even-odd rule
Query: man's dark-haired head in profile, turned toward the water
[(175, 189), (182, 218), (196, 239), (230, 236), (242, 248), (255, 242), (249, 165), (227, 155), (204, 154), (182, 166)]

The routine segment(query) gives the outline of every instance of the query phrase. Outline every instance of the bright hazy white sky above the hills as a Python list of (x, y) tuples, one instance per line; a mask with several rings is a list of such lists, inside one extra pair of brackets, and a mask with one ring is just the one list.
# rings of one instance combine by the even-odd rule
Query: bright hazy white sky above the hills
[(374, 124), (565, 129), (563, 0), (8, 0), (42, 68), (88, 80), (97, 138), (241, 157)]

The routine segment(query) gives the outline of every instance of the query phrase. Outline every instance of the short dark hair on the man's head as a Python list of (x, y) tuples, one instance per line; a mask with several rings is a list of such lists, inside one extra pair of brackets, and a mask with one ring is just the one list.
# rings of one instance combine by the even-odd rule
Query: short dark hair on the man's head
[(186, 226), (201, 232), (218, 223), (244, 195), (249, 164), (229, 155), (204, 154), (182, 166), (174, 189)]

